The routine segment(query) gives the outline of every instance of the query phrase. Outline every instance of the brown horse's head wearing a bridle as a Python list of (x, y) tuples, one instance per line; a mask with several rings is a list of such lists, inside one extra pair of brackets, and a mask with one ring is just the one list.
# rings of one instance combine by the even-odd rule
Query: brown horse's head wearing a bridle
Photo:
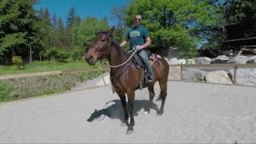
[(85, 54), (86, 62), (94, 65), (98, 60), (107, 57), (110, 54), (110, 45), (113, 40), (110, 37), (114, 30), (114, 26), (109, 31), (99, 32), (91, 42), (89, 50)]

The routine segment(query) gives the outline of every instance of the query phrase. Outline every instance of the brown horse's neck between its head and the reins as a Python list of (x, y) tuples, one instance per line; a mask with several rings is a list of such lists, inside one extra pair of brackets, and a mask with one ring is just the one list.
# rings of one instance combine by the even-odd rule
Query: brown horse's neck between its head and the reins
[(111, 66), (121, 65), (129, 58), (128, 54), (120, 46), (112, 46), (109, 62)]

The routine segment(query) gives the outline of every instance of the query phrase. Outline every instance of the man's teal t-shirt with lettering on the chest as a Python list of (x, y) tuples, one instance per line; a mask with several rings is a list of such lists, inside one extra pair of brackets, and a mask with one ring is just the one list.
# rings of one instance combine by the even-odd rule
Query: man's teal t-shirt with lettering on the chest
[(126, 39), (130, 41), (130, 49), (134, 46), (144, 45), (146, 38), (150, 36), (149, 31), (144, 26), (132, 27), (127, 31)]

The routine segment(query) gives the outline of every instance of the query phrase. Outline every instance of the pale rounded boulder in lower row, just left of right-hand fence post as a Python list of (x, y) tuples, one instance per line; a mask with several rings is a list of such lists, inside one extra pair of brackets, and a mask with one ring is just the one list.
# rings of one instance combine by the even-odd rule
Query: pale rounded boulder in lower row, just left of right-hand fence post
[(209, 72), (208, 74), (206, 74), (206, 82), (232, 84), (230, 77), (226, 74), (224, 70)]

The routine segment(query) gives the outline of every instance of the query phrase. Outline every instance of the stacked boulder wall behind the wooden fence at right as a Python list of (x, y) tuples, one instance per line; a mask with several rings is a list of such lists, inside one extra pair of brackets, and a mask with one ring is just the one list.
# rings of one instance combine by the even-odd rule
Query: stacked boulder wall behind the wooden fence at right
[[(237, 56), (228, 58), (226, 55), (220, 55), (217, 58), (199, 57), (193, 59), (167, 59), (170, 65), (169, 80), (185, 80), (194, 82), (236, 84), (242, 86), (256, 86), (256, 56)], [(237, 70), (234, 66), (226, 67), (226, 64), (239, 64)], [(252, 64), (254, 63), (254, 64)], [(176, 66), (182, 64), (181, 66)], [(186, 65), (185, 65), (186, 64)], [(193, 66), (193, 64), (199, 64)], [(202, 66), (200, 66), (202, 64)], [(204, 64), (223, 64), (223, 65), (205, 65)], [(250, 64), (247, 65), (241, 64)], [(175, 65), (175, 66), (172, 66)], [(239, 67), (241, 66), (241, 67)], [(182, 70), (181, 70), (182, 69)], [(236, 71), (236, 78), (235, 72)], [(181, 76), (182, 74), (182, 76)]]

